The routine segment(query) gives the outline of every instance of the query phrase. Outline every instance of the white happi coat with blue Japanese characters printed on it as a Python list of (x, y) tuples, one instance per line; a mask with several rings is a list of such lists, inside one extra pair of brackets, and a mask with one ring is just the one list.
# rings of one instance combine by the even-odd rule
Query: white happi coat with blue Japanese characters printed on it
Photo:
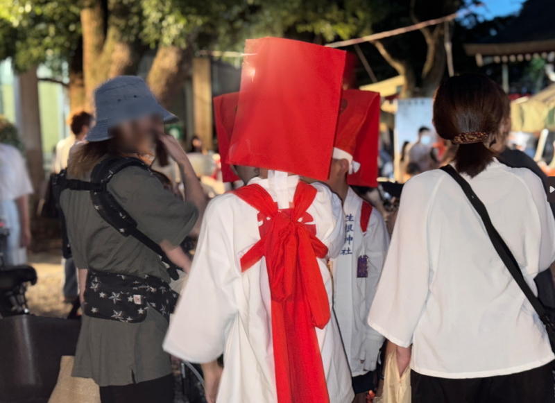
[[(339, 257), (332, 259), (334, 309), (353, 377), (376, 368), (384, 336), (367, 323), (379, 275), (389, 247), (384, 218), (372, 209), (366, 232), (362, 231), (363, 200), (349, 188), (345, 212), (345, 244)], [(368, 277), (357, 276), (359, 257), (368, 256)]]

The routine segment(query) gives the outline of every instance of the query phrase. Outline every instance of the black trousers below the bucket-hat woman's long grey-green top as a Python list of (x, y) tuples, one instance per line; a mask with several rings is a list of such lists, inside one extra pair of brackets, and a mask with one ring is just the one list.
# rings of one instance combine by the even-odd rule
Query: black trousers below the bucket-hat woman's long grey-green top
[(102, 403), (173, 403), (173, 374), (124, 386), (101, 386)]

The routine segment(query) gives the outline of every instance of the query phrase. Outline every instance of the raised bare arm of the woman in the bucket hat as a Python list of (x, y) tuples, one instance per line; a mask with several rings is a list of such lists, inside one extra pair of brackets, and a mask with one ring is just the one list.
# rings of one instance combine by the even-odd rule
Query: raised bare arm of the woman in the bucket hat
[(196, 177), (196, 173), (187, 158), (187, 154), (181, 148), (178, 141), (169, 135), (159, 134), (158, 139), (164, 144), (169, 155), (176, 160), (179, 166), (181, 180), (185, 187), (185, 200), (193, 203), (198, 209), (198, 219), (190, 234), (192, 237), (198, 237), (200, 232), (200, 223), (203, 221), (204, 212), (206, 209), (207, 201), (204, 195), (203, 187), (200, 186), (200, 181)]

